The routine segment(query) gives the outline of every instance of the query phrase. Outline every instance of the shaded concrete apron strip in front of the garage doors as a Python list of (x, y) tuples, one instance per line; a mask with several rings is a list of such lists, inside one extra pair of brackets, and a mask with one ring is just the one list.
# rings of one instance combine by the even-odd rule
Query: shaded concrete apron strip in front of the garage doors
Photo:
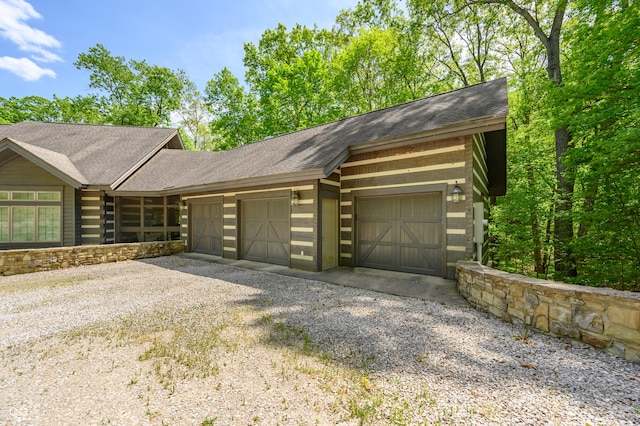
[(321, 272), (301, 271), (287, 266), (251, 260), (224, 259), (219, 256), (200, 253), (180, 253), (180, 256), (211, 263), (236, 266), (238, 268), (266, 271), (289, 277), (322, 281), (346, 287), (356, 287), (396, 296), (413, 297), (430, 300), (446, 305), (469, 306), (456, 288), (456, 282), (429, 275), (407, 274), (404, 272), (385, 271), (370, 268), (351, 268), (339, 266)]

